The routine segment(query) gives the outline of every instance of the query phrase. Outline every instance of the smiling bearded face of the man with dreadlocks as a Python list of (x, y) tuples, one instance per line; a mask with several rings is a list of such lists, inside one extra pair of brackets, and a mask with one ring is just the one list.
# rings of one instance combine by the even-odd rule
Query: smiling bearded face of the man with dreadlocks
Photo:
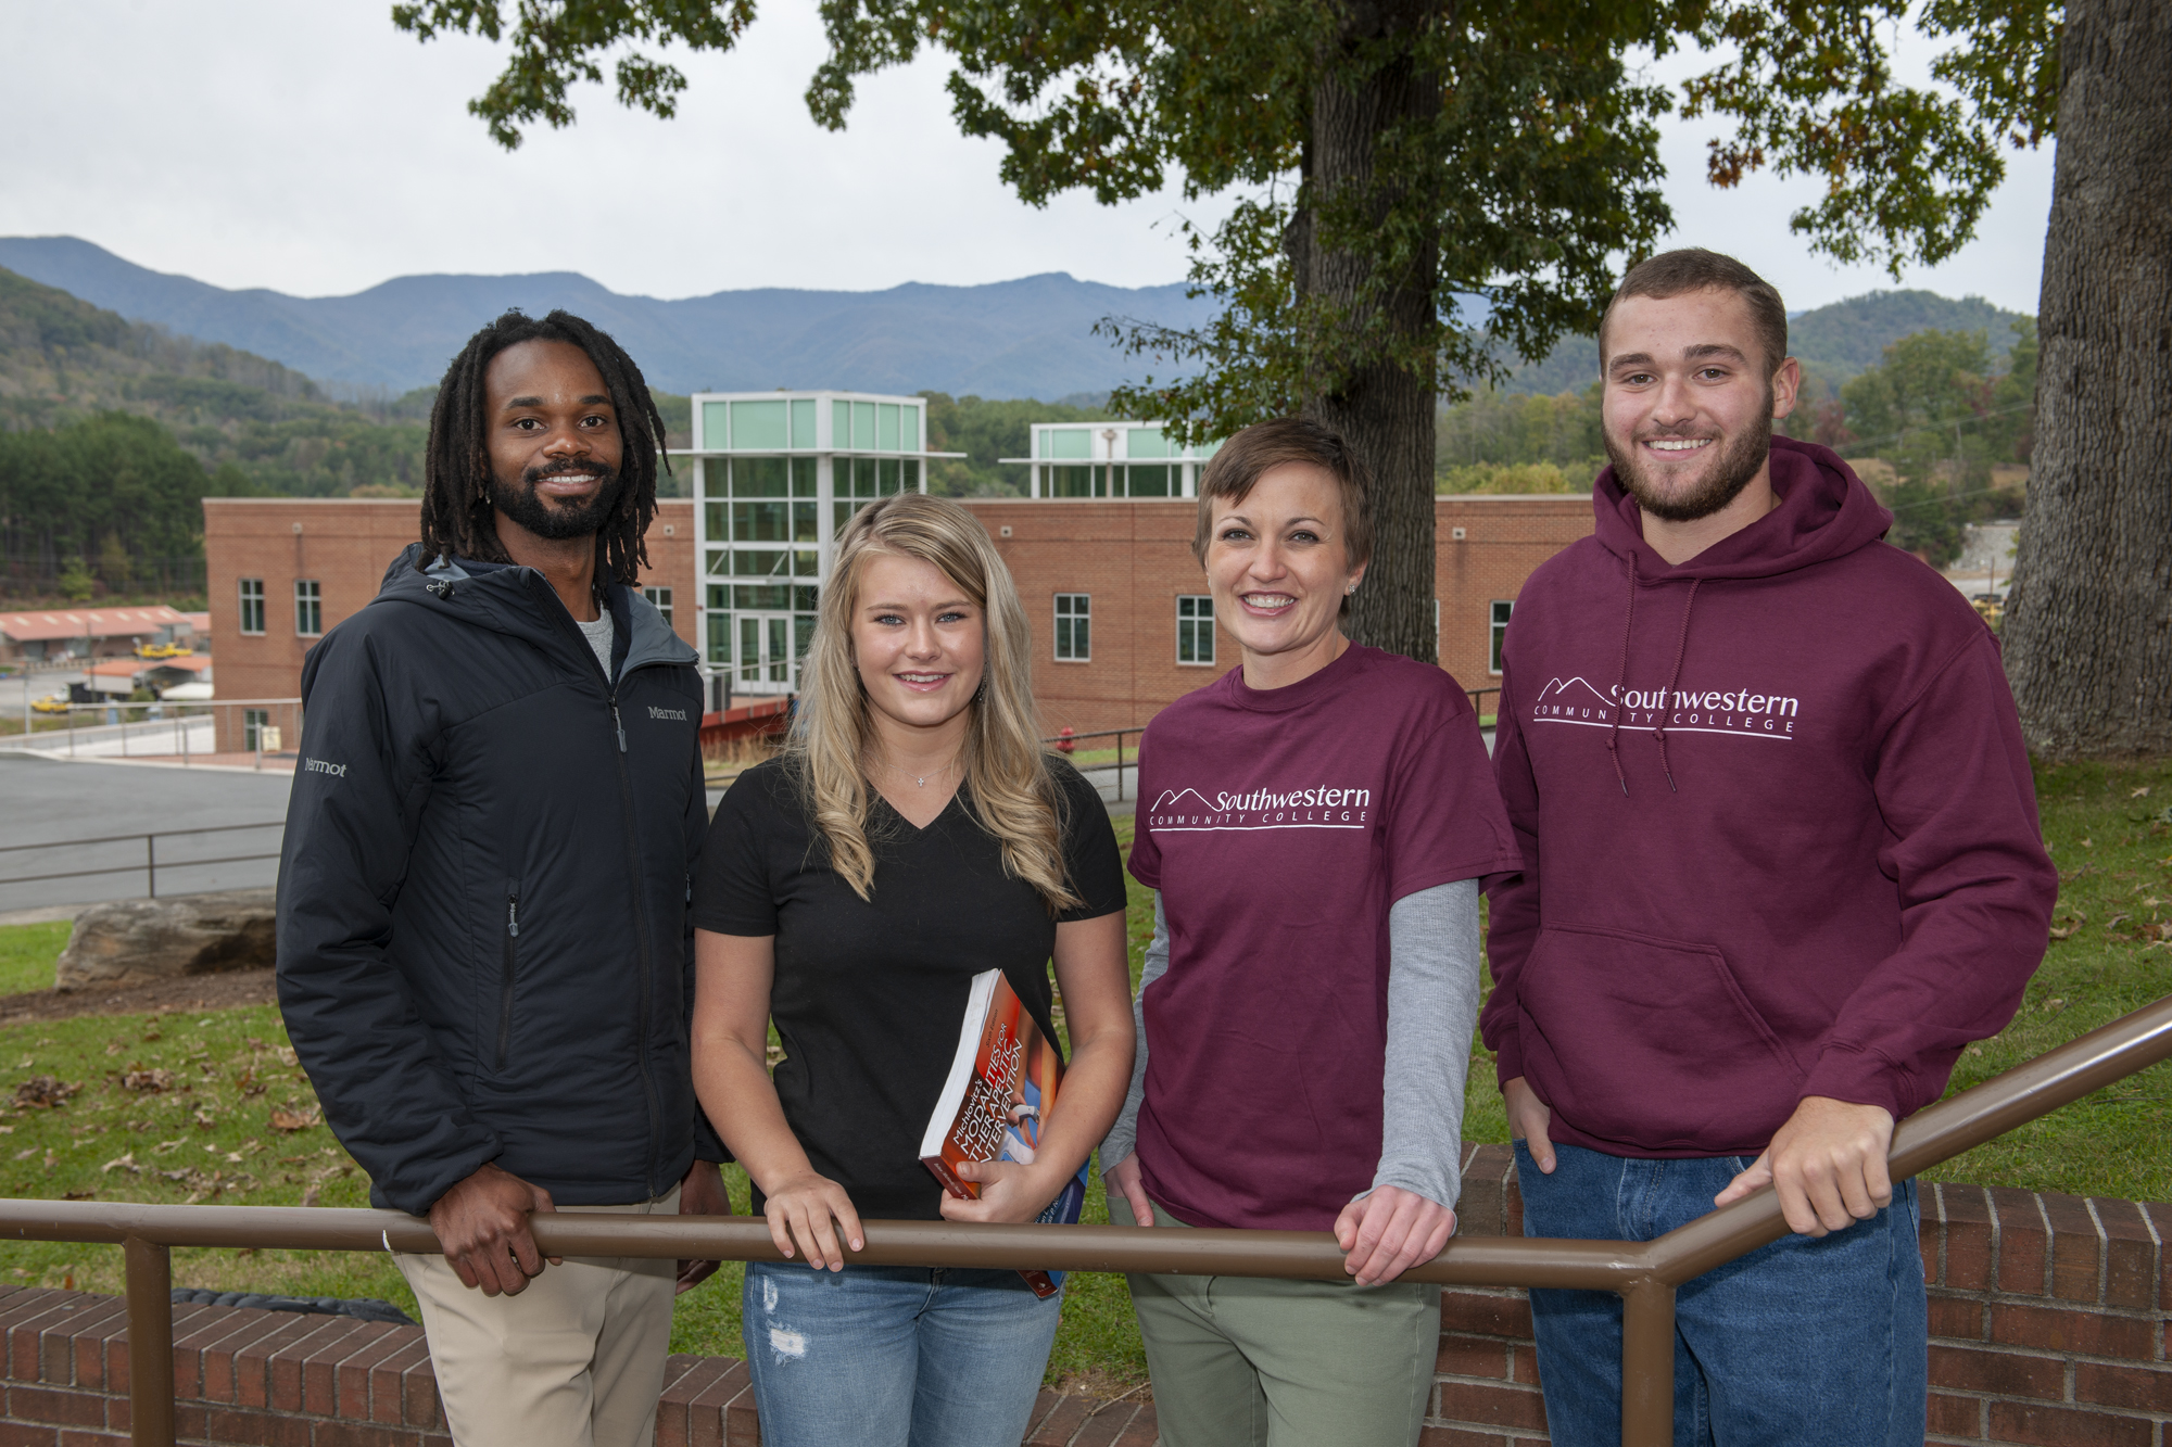
[(623, 441), (610, 389), (571, 341), (521, 341), (482, 374), (491, 439), (491, 504), (536, 537), (597, 532), (619, 500)]

